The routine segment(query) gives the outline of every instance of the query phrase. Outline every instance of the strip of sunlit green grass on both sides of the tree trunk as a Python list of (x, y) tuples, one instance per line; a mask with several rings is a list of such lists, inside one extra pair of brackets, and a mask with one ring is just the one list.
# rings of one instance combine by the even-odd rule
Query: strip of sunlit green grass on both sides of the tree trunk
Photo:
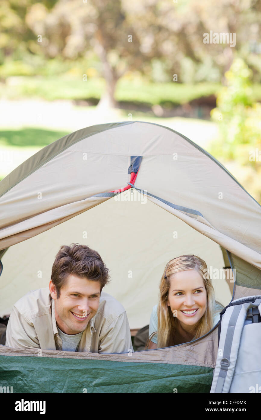
[[(40, 97), (45, 100), (96, 100), (100, 99), (106, 87), (102, 78), (87, 81), (68, 77), (13, 76), (1, 85), (2, 97), (17, 99), (21, 97)], [(202, 96), (216, 94), (218, 83), (178, 84), (150, 83), (145, 80), (120, 79), (116, 86), (115, 98), (118, 101), (135, 102), (152, 106), (181, 105)], [(260, 97), (261, 97), (261, 90)]]

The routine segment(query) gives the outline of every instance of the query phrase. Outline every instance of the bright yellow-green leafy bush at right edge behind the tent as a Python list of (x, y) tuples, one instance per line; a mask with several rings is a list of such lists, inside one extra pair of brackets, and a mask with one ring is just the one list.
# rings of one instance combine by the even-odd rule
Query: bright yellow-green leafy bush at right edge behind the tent
[[(215, 156), (250, 164), (251, 150), (261, 146), (261, 104), (253, 100), (252, 71), (236, 58), (225, 73), (227, 86), (217, 95), (217, 108), (211, 112), (220, 126), (220, 142), (213, 144)], [(256, 162), (259, 165), (259, 162)]]

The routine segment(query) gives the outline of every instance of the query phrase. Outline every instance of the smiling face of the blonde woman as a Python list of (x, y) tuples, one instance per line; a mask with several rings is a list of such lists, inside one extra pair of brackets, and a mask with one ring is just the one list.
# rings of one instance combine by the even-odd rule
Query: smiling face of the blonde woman
[(190, 332), (207, 309), (207, 291), (201, 274), (195, 270), (175, 273), (170, 278), (168, 306), (181, 327)]

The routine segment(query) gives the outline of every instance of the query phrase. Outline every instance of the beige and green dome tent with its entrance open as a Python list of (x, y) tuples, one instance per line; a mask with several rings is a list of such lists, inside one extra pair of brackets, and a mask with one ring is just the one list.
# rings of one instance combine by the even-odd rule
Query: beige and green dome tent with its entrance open
[[(0, 182), (0, 207), (0, 315), (48, 285), (59, 246), (71, 242), (101, 254), (111, 275), (105, 291), (124, 305), (132, 330), (149, 322), (174, 256), (194, 253), (212, 268), (229, 260), (233, 299), (260, 294), (260, 205), (214, 157), (167, 127), (126, 121), (62, 137)], [(216, 299), (228, 304), (227, 282), (213, 283)], [(164, 349), (40, 353), (0, 346), (1, 385), (14, 384), (13, 392), (209, 392), (217, 325)]]

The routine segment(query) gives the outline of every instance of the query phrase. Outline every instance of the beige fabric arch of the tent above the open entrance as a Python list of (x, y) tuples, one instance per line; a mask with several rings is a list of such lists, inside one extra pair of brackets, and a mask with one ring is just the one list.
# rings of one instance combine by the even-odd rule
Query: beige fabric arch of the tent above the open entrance
[[(117, 124), (89, 137), (90, 128), (85, 130), (86, 138), (55, 155), (0, 198), (1, 238), (21, 232), (21, 222), (24, 230), (47, 225), (57, 220), (55, 212), (53, 217), (49, 213), (55, 209), (63, 212), (63, 206), (126, 186), (129, 157), (140, 155), (138, 189), (202, 213), (221, 234), (245, 245), (248, 254), (242, 257), (260, 268), (260, 257), (251, 251), (261, 254), (257, 228), (261, 207), (192, 142), (165, 127), (139, 121)], [(75, 206), (74, 214), (80, 207)], [(14, 237), (0, 247), (13, 243)]]

